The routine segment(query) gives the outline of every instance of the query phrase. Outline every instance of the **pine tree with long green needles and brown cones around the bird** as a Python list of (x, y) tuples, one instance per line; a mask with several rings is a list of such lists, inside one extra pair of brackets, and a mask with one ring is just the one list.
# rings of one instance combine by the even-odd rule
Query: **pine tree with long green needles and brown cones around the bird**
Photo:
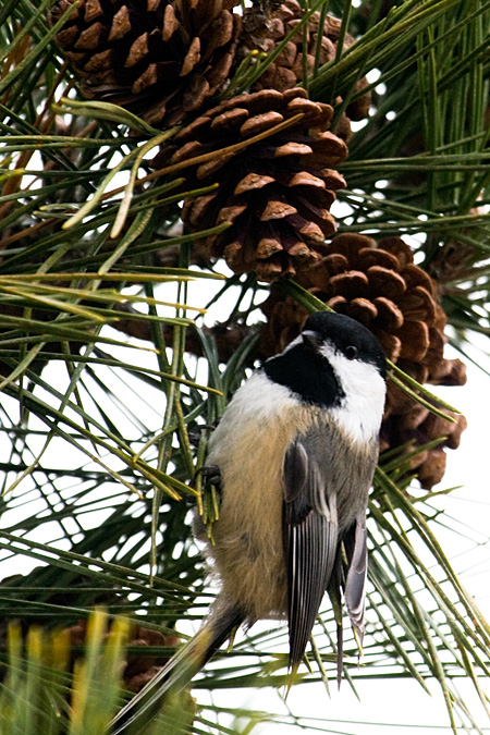
[[(2, 732), (103, 732), (205, 616), (211, 427), (319, 308), (391, 360), (345, 685), (436, 681), (451, 732), (481, 732), (457, 679), (488, 709), (490, 626), (438, 535), (464, 406), (432, 390), (490, 333), (489, 22), (474, 0), (0, 8)], [(305, 682), (334, 679), (338, 618), (326, 599)], [(285, 651), (252, 628), (198, 688), (280, 691)], [(229, 709), (188, 689), (145, 732), (273, 720)]]

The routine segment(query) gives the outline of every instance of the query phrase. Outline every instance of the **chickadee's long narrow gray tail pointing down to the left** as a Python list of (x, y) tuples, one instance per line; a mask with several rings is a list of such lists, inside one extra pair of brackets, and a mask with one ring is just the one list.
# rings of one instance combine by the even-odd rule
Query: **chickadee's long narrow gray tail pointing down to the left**
[[(166, 663), (111, 721), (108, 733), (120, 735), (138, 723), (143, 727), (159, 711), (168, 693), (181, 691), (244, 622), (237, 610), (215, 612), (200, 630)], [(139, 731), (138, 731), (139, 732)]]

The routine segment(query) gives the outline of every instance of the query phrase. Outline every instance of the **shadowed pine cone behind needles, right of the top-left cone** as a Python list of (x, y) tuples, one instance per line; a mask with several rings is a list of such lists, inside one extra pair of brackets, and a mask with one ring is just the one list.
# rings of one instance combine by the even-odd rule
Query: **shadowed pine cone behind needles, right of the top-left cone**
[[(254, 49), (259, 49), (269, 56), (279, 44), (281, 44), (287, 34), (299, 25), (305, 10), (296, 0), (283, 0), (279, 5), (269, 3), (264, 11), (255, 3), (252, 8), (246, 8), (243, 15), (243, 30), (240, 38), (240, 46), (236, 51), (236, 59), (240, 61)], [(320, 28), (320, 13), (314, 13), (306, 26), (306, 71), (311, 74), (315, 69), (315, 54), (321, 33), (319, 65), (326, 64), (335, 58), (336, 47), (342, 22), (332, 15), (327, 15), (324, 24)], [(303, 82), (304, 77), (304, 48), (305, 34), (304, 26), (298, 28), (296, 35), (290, 38), (281, 53), (268, 65), (264, 74), (254, 83), (250, 91), (257, 89), (278, 89), (284, 91), (291, 89)], [(344, 48), (350, 48), (355, 44), (355, 39), (345, 34)], [(367, 79), (359, 79), (356, 87), (362, 90), (367, 86)], [(342, 101), (339, 99), (339, 101)], [(340, 124), (340, 130), (335, 133), (340, 137), (348, 138), (351, 136), (350, 120), (363, 120), (369, 113), (371, 96), (369, 93), (358, 97), (346, 107), (345, 115)], [(340, 132), (342, 131), (342, 133)]]

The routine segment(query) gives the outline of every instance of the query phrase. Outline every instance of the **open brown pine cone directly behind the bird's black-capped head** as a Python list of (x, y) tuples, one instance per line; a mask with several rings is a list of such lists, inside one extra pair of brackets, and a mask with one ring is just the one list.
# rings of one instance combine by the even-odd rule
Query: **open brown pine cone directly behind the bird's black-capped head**
[[(366, 324), (377, 335), (387, 357), (420, 383), (462, 385), (465, 366), (445, 359), (445, 315), (438, 303), (436, 282), (414, 265), (408, 245), (400, 237), (376, 243), (370, 237), (342, 234), (333, 237), (321, 262), (299, 273), (298, 283), (335, 311)], [(307, 310), (278, 290), (262, 304), (268, 321), (260, 350), (265, 356), (283, 350), (301, 331)], [(422, 446), (445, 438), (433, 450), (413, 458), (425, 488), (444, 475), (444, 446), (455, 449), (466, 427), (463, 416), (456, 424), (438, 419), (391, 381), (381, 429), (381, 450), (413, 442)]]

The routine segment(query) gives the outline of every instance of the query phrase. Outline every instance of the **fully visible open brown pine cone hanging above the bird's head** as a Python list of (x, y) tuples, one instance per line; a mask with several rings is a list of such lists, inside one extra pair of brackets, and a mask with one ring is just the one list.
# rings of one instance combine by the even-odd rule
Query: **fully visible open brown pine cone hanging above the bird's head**
[[(281, 132), (223, 152), (298, 114), (299, 121)], [(306, 99), (304, 89), (245, 93), (184, 127), (162, 148), (154, 167), (216, 151), (185, 170), (187, 186), (220, 186), (188, 198), (183, 220), (193, 232), (232, 222), (223, 233), (206, 238), (211, 255), (224, 256), (235, 273), (255, 270), (258, 279), (274, 281), (317, 262), (324, 238), (335, 230), (329, 210), (334, 191), (345, 182), (334, 167), (345, 159), (347, 148), (327, 132), (331, 118), (332, 108)]]

